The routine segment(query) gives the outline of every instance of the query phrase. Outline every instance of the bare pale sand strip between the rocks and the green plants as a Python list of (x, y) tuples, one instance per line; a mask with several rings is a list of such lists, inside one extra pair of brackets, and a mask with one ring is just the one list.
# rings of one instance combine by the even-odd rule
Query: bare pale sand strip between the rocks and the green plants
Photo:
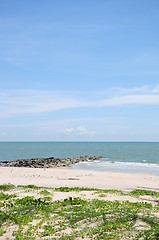
[(4, 183), (121, 190), (146, 188), (159, 191), (159, 176), (138, 173), (83, 171), (69, 168), (0, 167), (0, 184)]

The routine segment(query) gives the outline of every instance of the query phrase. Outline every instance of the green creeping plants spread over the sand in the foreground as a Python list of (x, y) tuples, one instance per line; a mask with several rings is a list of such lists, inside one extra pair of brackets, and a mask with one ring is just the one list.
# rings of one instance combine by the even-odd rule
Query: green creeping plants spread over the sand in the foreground
[[(2, 186), (2, 185), (1, 185)], [(16, 190), (36, 191), (42, 197), (18, 197)], [(39, 191), (40, 189), (40, 191)], [(15, 226), (13, 239), (159, 239), (159, 203), (153, 206), (148, 202), (106, 201), (71, 197), (72, 192), (92, 191), (105, 197), (105, 194), (123, 194), (116, 190), (94, 188), (39, 188), (34, 185), (14, 187), (16, 194), (0, 193), (0, 236), (9, 226)], [(70, 192), (70, 197), (53, 201), (55, 192)], [(157, 192), (134, 190), (128, 195), (150, 195)], [(139, 230), (136, 223), (148, 226)], [(7, 227), (5, 227), (7, 226)], [(69, 229), (69, 231), (67, 231)]]

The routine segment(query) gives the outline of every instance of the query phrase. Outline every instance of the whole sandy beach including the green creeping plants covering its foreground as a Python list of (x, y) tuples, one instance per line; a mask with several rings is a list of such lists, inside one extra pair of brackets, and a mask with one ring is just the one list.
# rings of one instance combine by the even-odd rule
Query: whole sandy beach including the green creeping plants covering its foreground
[[(63, 239), (62, 237), (68, 237), (68, 239), (88, 240), (96, 239), (96, 236), (99, 237), (98, 239), (130, 239), (130, 234), (133, 237), (140, 234), (143, 237), (140, 239), (145, 239), (146, 231), (147, 234), (151, 231), (152, 236), (157, 234), (155, 231), (158, 228), (159, 217), (159, 212), (156, 210), (159, 201), (157, 193), (159, 192), (159, 176), (122, 172), (82, 171), (71, 168), (0, 167), (0, 184), (7, 183), (14, 184), (14, 186), (13, 189), (2, 190), (1, 201), (5, 203), (4, 206), (10, 206), (9, 211), (14, 218), (10, 222), (9, 217), (5, 219), (7, 215), (4, 213), (0, 239), (15, 239), (20, 234), (21, 239), (24, 239), (28, 234), (33, 239)], [(29, 184), (34, 184), (40, 188), (18, 186)], [(3, 189), (3, 185), (1, 186)], [(8, 186), (12, 187), (12, 185)], [(68, 191), (62, 189), (59, 191), (56, 190), (58, 187), (64, 187), (64, 189), (65, 187), (89, 187), (95, 189), (76, 191), (76, 189), (70, 188)], [(141, 193), (132, 195), (131, 190), (133, 189), (138, 189), (134, 192)], [(145, 192), (143, 191), (145, 189), (154, 191)], [(144, 195), (142, 195), (142, 192), (144, 192)], [(3, 200), (5, 196), (6, 200)], [(14, 204), (7, 205), (9, 201)], [(48, 201), (49, 204), (47, 204)], [(94, 210), (96, 208), (98, 208), (98, 211)], [(26, 222), (25, 209), (27, 218), (30, 217)], [(122, 218), (120, 217), (121, 209)], [(32, 214), (33, 210), (34, 214)], [(110, 210), (112, 211), (111, 215), (105, 214), (105, 211), (109, 213)], [(7, 207), (6, 211), (8, 211)], [(47, 217), (44, 214), (45, 211)], [(137, 215), (136, 211), (138, 212)], [(16, 214), (17, 212), (18, 214)], [(132, 212), (136, 216), (135, 220), (132, 220)], [(104, 217), (108, 220), (104, 222), (104, 226), (109, 225), (112, 229), (103, 230), (104, 220), (102, 214), (105, 214)], [(19, 215), (21, 220), (18, 225)], [(105, 238), (110, 233), (114, 234), (114, 218), (117, 215), (119, 215), (120, 219), (120, 227), (115, 230), (118, 238), (115, 238), (116, 235), (113, 235), (113, 238)], [(76, 227), (71, 225), (73, 217)], [(155, 228), (149, 218), (151, 221), (152, 219), (156, 221)], [(63, 221), (62, 225), (60, 225), (61, 219)], [(21, 224), (22, 220), (24, 221), (23, 225)], [(127, 225), (125, 225), (125, 221), (127, 221)], [(131, 229), (129, 229), (130, 222), (132, 223)], [(124, 228), (121, 227), (122, 224)], [(94, 229), (98, 230), (94, 232)], [(100, 234), (103, 234), (103, 237)]]

